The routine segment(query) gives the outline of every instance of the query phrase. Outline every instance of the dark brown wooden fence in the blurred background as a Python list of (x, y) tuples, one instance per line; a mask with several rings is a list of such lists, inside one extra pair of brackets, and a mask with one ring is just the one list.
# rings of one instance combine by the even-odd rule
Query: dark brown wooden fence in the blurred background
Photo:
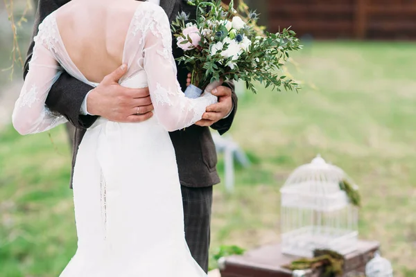
[(272, 32), (319, 39), (416, 39), (416, 0), (252, 0)]

